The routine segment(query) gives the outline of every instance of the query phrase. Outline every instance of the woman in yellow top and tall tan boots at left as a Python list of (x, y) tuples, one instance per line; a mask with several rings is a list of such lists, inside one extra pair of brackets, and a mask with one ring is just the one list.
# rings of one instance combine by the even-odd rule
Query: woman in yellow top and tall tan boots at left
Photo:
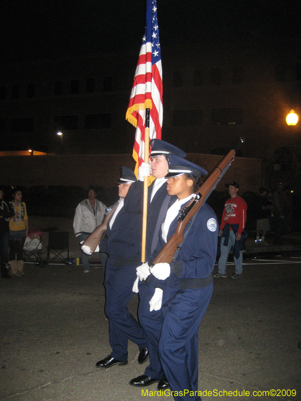
[(15, 217), (10, 219), (9, 258), (12, 274), (22, 277), (24, 274), (23, 246), (25, 239), (28, 236), (28, 217), (26, 205), (22, 202), (22, 192), (18, 188), (13, 190), (13, 200), (11, 205), (14, 209)]

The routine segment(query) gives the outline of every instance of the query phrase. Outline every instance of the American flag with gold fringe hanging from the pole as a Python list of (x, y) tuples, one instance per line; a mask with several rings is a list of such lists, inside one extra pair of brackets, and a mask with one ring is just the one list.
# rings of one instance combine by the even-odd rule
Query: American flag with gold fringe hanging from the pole
[(157, 0), (147, 0), (146, 28), (142, 39), (126, 119), (136, 127), (133, 158), (135, 173), (144, 160), (145, 109), (149, 110), (149, 140), (161, 139), (163, 122), (162, 64), (157, 19)]

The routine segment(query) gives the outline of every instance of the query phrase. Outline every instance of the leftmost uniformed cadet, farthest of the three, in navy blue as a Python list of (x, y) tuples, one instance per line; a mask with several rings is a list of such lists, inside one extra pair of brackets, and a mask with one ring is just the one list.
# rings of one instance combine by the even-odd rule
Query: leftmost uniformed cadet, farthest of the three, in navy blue
[(130, 169), (122, 167), (118, 181), (119, 204), (111, 217), (106, 236), (100, 242), (100, 250), (109, 254), (105, 270), (105, 313), (109, 319), (109, 340), (112, 352), (96, 363), (108, 368), (127, 364), (128, 339), (139, 346), (138, 363), (148, 358), (146, 335), (129, 313), (127, 304), (133, 297), (132, 285), (136, 267), (141, 264), (142, 215), (127, 213), (124, 198), (136, 177)]

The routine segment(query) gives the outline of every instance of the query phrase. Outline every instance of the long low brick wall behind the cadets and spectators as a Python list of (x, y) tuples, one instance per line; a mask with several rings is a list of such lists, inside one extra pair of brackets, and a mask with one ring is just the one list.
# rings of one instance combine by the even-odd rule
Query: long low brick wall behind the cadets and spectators
[[(187, 158), (210, 173), (223, 156), (189, 153)], [(1, 156), (0, 184), (111, 187), (122, 165), (134, 168), (130, 154)], [(225, 189), (224, 184), (232, 180), (239, 182), (241, 192), (257, 191), (261, 185), (261, 160), (236, 157), (216, 189)]]

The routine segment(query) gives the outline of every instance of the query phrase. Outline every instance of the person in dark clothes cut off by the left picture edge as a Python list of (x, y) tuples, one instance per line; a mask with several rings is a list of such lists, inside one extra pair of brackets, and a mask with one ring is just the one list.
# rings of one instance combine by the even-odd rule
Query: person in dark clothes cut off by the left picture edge
[(14, 209), (10, 203), (6, 203), (4, 198), (4, 189), (0, 189), (0, 263), (1, 263), (1, 277), (10, 278), (9, 275), (9, 237), (10, 237), (10, 224), (9, 219), (15, 216)]

